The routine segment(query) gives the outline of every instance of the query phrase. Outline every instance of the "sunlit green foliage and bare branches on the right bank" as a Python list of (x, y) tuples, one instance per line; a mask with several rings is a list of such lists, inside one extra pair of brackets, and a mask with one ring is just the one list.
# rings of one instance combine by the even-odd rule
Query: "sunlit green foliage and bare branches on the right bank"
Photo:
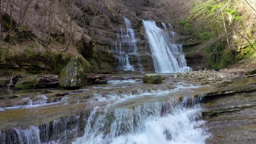
[[(191, 54), (206, 56), (212, 68), (223, 68), (256, 52), (254, 0), (194, 0), (178, 22), (186, 34), (202, 42)], [(191, 3), (190, 3), (191, 4)]]

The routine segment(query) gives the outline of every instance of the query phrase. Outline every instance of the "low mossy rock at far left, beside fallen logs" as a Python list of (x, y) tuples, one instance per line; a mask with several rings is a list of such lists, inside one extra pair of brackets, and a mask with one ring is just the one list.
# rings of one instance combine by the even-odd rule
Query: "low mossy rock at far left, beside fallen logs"
[(19, 78), (18, 82), (15, 84), (15, 88), (18, 89), (30, 89), (35, 88), (38, 85), (38, 79), (36, 76), (31, 76), (27, 78)]

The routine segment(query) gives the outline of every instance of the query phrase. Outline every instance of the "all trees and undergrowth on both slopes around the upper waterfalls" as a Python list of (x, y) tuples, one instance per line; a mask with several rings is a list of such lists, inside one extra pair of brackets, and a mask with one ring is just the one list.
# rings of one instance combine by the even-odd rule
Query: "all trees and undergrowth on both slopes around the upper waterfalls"
[(192, 36), (201, 44), (191, 55), (205, 56), (212, 68), (255, 54), (255, 0), (0, 0), (0, 64), (43, 60), (59, 73), (70, 58), (84, 56), (101, 67), (100, 38), (114, 37), (123, 16), (137, 18), (126, 8), (130, 2), (156, 6), (140, 17), (161, 17)]

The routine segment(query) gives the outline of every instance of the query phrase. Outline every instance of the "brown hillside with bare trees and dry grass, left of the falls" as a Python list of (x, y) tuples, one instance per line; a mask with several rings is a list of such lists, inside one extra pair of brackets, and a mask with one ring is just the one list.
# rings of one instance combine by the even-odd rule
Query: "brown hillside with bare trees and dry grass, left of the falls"
[[(112, 0), (0, 0), (0, 64), (41, 60), (51, 66), (52, 72), (59, 73), (70, 58), (92, 54), (97, 40), (116, 30), (110, 18), (118, 20), (115, 16), (120, 11), (113, 3)], [(81, 41), (89, 51), (81, 53), (77, 48)]]

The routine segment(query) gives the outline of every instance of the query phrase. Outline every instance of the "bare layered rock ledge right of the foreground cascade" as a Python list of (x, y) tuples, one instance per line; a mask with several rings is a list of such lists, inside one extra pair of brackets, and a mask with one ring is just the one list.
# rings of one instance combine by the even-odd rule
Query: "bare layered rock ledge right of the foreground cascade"
[[(229, 83), (229, 82), (228, 82)], [(254, 144), (256, 142), (255, 78), (220, 84), (206, 94), (201, 106), (207, 132), (212, 136), (206, 144)], [(209, 95), (210, 94), (210, 95)]]

